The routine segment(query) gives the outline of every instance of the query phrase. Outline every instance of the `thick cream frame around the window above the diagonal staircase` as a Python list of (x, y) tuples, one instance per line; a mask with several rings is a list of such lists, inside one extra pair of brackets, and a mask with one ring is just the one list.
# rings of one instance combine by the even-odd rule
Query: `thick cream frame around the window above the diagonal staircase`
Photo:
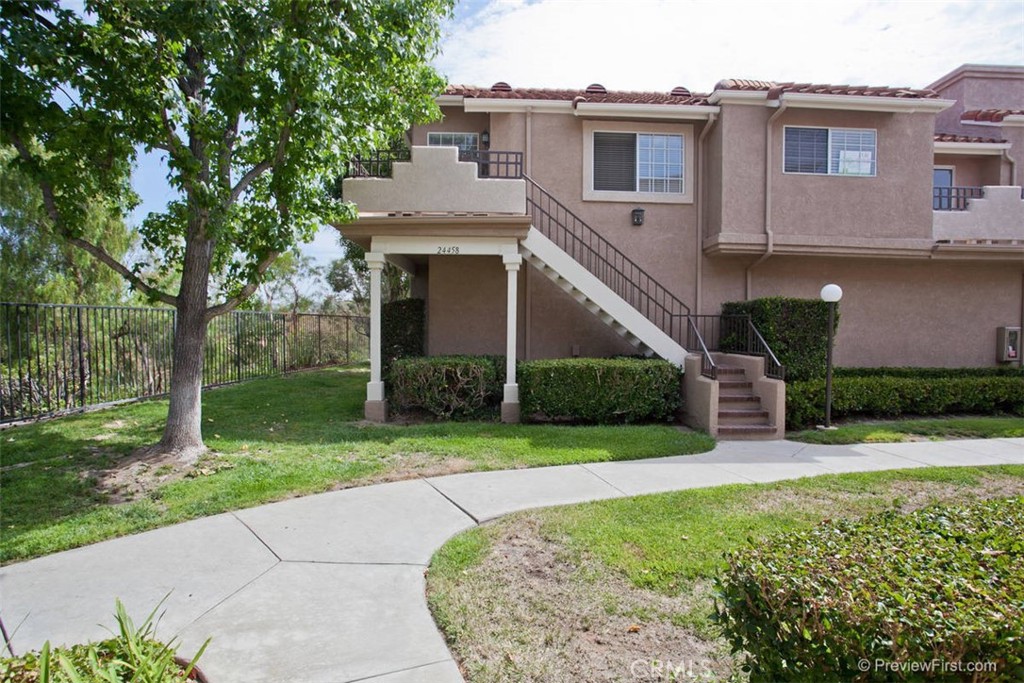
[[(653, 133), (683, 138), (683, 191), (641, 193), (594, 189), (594, 133)], [(639, 164), (638, 164), (639, 166)], [(639, 168), (638, 168), (639, 171)], [(583, 122), (583, 199), (587, 202), (631, 202), (642, 204), (693, 203), (693, 126), (690, 124), (631, 123), (628, 121)]]

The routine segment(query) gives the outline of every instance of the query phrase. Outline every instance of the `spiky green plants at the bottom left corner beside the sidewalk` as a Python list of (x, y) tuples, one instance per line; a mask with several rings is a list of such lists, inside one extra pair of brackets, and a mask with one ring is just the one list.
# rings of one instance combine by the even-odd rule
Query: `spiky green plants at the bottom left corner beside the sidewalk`
[[(164, 598), (165, 600), (167, 598)], [(161, 600), (163, 604), (163, 600)], [(39, 652), (0, 658), (3, 683), (181, 683), (205, 681), (196, 663), (206, 651), (209, 640), (195, 657), (175, 654), (176, 643), (155, 639), (156, 616), (160, 605), (138, 627), (120, 600), (115, 617), (118, 633), (98, 643), (51, 648), (49, 641)]]

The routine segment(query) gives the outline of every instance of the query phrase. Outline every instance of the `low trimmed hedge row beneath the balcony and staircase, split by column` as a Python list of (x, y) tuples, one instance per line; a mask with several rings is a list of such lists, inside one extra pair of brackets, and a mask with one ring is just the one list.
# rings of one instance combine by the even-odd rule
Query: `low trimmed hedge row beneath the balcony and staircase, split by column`
[[(580, 423), (671, 420), (681, 404), (678, 368), (665, 360), (559, 358), (517, 366), (524, 418)], [(399, 412), (423, 411), (442, 419), (497, 415), (505, 382), (505, 356), (398, 358), (388, 377)]]

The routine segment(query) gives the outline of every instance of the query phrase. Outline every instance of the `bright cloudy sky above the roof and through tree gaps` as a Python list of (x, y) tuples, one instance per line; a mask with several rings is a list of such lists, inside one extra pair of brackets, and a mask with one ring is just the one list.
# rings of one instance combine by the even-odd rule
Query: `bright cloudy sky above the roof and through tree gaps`
[[(463, 0), (434, 59), (450, 83), (694, 92), (725, 78), (924, 88), (963, 63), (1024, 65), (1024, 0)], [(170, 199), (155, 161), (137, 218)], [(327, 265), (337, 231), (302, 251)]]

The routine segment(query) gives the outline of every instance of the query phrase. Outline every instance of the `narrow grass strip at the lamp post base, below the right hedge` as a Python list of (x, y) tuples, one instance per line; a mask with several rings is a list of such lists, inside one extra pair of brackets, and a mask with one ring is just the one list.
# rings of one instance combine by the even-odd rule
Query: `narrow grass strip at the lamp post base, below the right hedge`
[(791, 432), (786, 438), (804, 443), (882, 443), (950, 438), (1012, 438), (1024, 436), (1022, 418), (929, 418), (891, 422), (851, 422), (837, 429), (807, 429)]

